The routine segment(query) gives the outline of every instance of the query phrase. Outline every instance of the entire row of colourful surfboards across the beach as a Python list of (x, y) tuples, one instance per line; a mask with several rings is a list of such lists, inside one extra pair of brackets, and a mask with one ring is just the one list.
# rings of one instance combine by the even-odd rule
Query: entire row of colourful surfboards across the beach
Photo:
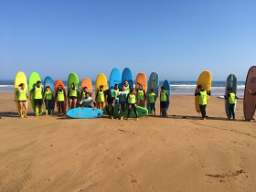
[[(33, 87), (36, 86), (37, 80), (40, 80), (39, 75), (36, 72), (31, 73), (29, 80), (28, 80), (28, 91), (30, 92)], [(121, 74), (121, 70), (118, 68), (112, 69), (112, 73), (110, 76), (110, 80), (108, 83), (108, 80), (104, 74), (99, 74), (96, 83), (95, 83), (95, 92), (97, 92), (100, 88), (101, 85), (103, 85), (103, 90), (107, 89), (112, 89), (115, 84), (119, 85), (119, 88), (121, 89), (123, 85), (123, 81), (128, 80), (128, 84), (133, 87), (133, 73), (130, 68), (125, 68), (123, 69), (123, 73)], [(18, 89), (18, 85), (20, 83), (25, 83), (25, 87), (27, 89), (27, 78), (26, 75), (23, 72), (18, 72), (16, 74), (16, 80), (15, 80), (15, 92)], [(69, 74), (69, 79), (68, 79), (68, 89), (71, 83), (75, 84), (75, 87), (82, 90), (83, 87), (88, 87), (88, 91), (92, 92), (92, 83), (91, 80), (88, 78), (85, 78), (81, 81), (79, 81), (78, 76), (75, 73), (70, 73)], [(144, 85), (144, 91), (148, 93), (151, 89), (154, 89), (156, 96), (158, 96), (159, 93), (159, 77), (156, 72), (151, 73), (149, 80), (146, 79), (146, 76), (144, 73), (139, 73), (136, 77), (135, 80), (135, 89), (138, 89), (139, 84)], [(44, 80), (44, 87), (50, 86), (52, 91), (56, 91), (59, 85), (62, 85), (62, 87), (65, 89), (65, 86), (61, 80), (57, 80), (56, 83), (54, 84), (53, 80), (50, 77), (47, 77)], [(203, 71), (197, 80), (197, 85), (202, 85), (203, 88), (206, 91), (209, 91), (211, 88), (211, 73), (208, 70)], [(165, 86), (165, 91), (168, 93), (169, 99), (171, 95), (171, 87), (169, 84), (168, 80), (165, 80), (163, 83), (163, 86)], [(54, 88), (54, 89), (53, 89)], [(225, 89), (225, 95), (228, 94), (227, 90), (231, 88), (233, 92), (236, 94), (237, 93), (237, 78), (234, 74), (230, 74), (229, 77), (227, 78), (226, 81), (226, 89)], [(197, 89), (197, 88), (196, 88)], [(244, 104), (243, 104), (243, 109), (244, 109), (244, 117), (246, 121), (251, 121), (254, 112), (255, 112), (255, 106), (256, 106), (256, 99), (255, 96), (251, 95), (249, 93), (249, 90), (252, 92), (256, 92), (256, 67), (251, 67), (249, 69), (248, 75), (247, 75), (247, 80), (246, 80), (246, 86), (245, 86), (245, 92), (244, 92)], [(198, 91), (198, 90), (196, 90)], [(68, 100), (69, 101), (69, 100)], [(65, 101), (65, 104), (67, 104), (67, 101)], [(77, 102), (78, 104), (78, 102)], [(32, 108), (34, 109), (34, 101), (33, 101), (33, 96), (32, 96), (32, 101), (31, 101)], [(58, 102), (56, 101), (56, 105), (58, 106)], [(195, 96), (195, 107), (196, 111), (200, 112), (199, 109), (199, 97)], [(18, 103), (16, 102), (16, 108), (18, 111)], [(139, 107), (138, 107), (139, 108)], [(149, 102), (147, 101), (146, 103), (146, 108), (149, 109)], [(168, 106), (167, 106), (168, 109)], [(225, 101), (225, 111), (227, 113), (227, 116), (229, 116), (229, 102)], [(37, 108), (37, 114), (39, 114), (39, 109)], [(99, 112), (80, 112), (80, 108), (74, 109), (72, 112), (68, 112), (69, 116), (72, 116), (74, 118), (95, 118), (99, 117), (102, 115), (102, 111), (99, 110)], [(19, 112), (19, 111), (18, 111)], [(144, 108), (138, 109), (139, 116), (144, 116), (147, 115), (147, 110)], [(165, 114), (162, 114), (165, 116)], [(133, 112), (131, 116), (134, 116)]]

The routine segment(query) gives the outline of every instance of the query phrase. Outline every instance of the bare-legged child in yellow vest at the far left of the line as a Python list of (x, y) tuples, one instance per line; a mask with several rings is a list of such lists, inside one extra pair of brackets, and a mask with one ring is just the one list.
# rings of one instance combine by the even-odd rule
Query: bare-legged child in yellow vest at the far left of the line
[(28, 100), (27, 89), (25, 89), (24, 83), (20, 83), (18, 87), (20, 87), (20, 89), (16, 91), (15, 101), (16, 100), (18, 101), (19, 114), (20, 114), (19, 118), (22, 118), (23, 108), (24, 108), (24, 117), (27, 118), (27, 100)]

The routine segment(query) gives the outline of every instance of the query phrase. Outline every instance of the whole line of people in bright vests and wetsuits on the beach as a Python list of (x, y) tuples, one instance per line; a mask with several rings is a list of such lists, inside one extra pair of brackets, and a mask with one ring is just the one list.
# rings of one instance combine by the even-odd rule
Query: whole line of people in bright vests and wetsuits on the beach
[[(202, 119), (206, 119), (206, 106), (208, 102), (208, 96), (211, 95), (210, 91), (205, 91), (201, 85), (197, 86), (199, 91), (195, 92), (195, 96), (199, 96), (199, 108), (201, 112)], [(256, 92), (252, 93), (256, 95)], [(91, 107), (95, 109), (103, 110), (106, 108), (107, 113), (110, 118), (113, 119), (114, 106), (118, 105), (118, 115), (117, 117), (123, 120), (123, 113), (128, 107), (127, 120), (130, 117), (131, 110), (138, 120), (138, 112), (136, 110), (137, 105), (145, 107), (145, 101), (149, 101), (149, 113), (155, 116), (155, 101), (156, 94), (155, 90), (152, 89), (148, 94), (145, 93), (143, 85), (139, 85), (139, 89), (134, 90), (127, 80), (124, 80), (122, 90), (119, 90), (119, 85), (115, 84), (113, 89), (103, 91), (103, 86), (100, 86), (100, 89), (96, 92), (95, 102), (91, 98), (91, 92), (88, 91), (87, 87), (82, 88), (82, 91), (79, 93), (79, 90), (75, 87), (74, 83), (70, 84), (70, 89), (68, 91), (68, 96), (66, 91), (59, 85), (58, 90), (53, 93), (49, 86), (46, 87), (44, 92), (41, 87), (41, 81), (37, 81), (37, 86), (35, 86), (30, 92), (30, 101), (34, 101), (34, 111), (35, 116), (37, 116), (37, 106), (39, 108), (39, 115), (43, 115), (43, 101), (46, 105), (46, 114), (52, 115), (53, 109), (55, 106), (55, 101), (58, 103), (59, 116), (63, 116), (66, 113), (66, 104), (65, 101), (69, 99), (69, 110), (71, 107), (76, 108), (77, 101), (80, 99), (79, 105), (82, 108)], [(228, 89), (228, 95), (225, 95), (225, 99), (229, 101), (229, 119), (235, 119), (235, 103), (238, 100), (238, 97), (232, 92), (232, 89)], [(25, 89), (25, 84), (21, 83), (19, 89), (16, 91), (15, 101), (18, 101), (20, 118), (23, 116), (27, 118), (27, 100), (28, 100), (28, 91)], [(162, 112), (165, 113), (167, 117), (167, 104), (169, 103), (168, 93), (165, 91), (165, 87), (161, 87), (160, 91), (160, 116)], [(105, 103), (105, 106), (104, 106)], [(110, 110), (111, 108), (111, 110)]]

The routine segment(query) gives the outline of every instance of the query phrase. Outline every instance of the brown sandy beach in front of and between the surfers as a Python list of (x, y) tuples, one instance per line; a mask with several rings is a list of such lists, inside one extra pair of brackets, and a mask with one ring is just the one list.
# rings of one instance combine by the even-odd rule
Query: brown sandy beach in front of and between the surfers
[(127, 122), (20, 120), (13, 93), (0, 97), (0, 191), (256, 191), (256, 123), (242, 121), (242, 101), (237, 121), (216, 96), (207, 121), (193, 96), (172, 96), (169, 118)]

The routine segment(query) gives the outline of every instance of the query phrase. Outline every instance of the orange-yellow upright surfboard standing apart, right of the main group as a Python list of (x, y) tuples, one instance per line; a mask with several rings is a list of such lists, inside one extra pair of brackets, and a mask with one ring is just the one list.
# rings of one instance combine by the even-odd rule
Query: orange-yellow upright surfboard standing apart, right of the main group
[[(203, 71), (200, 76), (198, 77), (197, 80), (197, 86), (198, 85), (202, 85), (203, 89), (205, 91), (210, 91), (210, 87), (211, 87), (211, 74), (208, 70)], [(199, 90), (196, 88), (196, 91), (198, 92)], [(196, 111), (200, 112), (200, 108), (199, 108), (199, 96), (195, 96), (195, 107), (196, 107)]]

